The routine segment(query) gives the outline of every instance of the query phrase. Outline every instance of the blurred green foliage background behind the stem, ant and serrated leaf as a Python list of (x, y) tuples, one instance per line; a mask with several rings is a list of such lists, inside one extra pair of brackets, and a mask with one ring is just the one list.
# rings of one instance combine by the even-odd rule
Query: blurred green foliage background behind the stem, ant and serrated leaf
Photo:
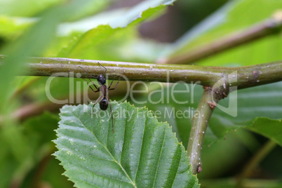
[[(178, 0), (166, 6), (168, 3), (0, 0), (0, 54), (8, 55), (0, 57), (0, 187), (73, 187), (62, 175), (59, 161), (51, 156), (60, 106), (48, 100), (46, 89), (54, 98), (68, 99), (76, 95), (76, 88), (83, 89), (83, 80), (75, 79), (72, 91), (69, 78), (55, 78), (46, 88), (46, 77), (16, 76), (26, 71), (27, 57), (154, 63), (251, 27), (282, 8), (282, 0)], [(231, 67), (281, 59), (280, 33), (193, 64)], [(148, 86), (150, 91), (159, 89), (156, 84)], [(142, 85), (136, 88), (142, 89)], [(170, 90), (171, 85), (165, 84), (164, 88)], [(176, 88), (185, 90), (184, 84)], [(119, 100), (127, 89), (120, 83), (109, 96)], [(196, 86), (194, 102), (186, 105), (173, 102), (170, 95), (169, 102), (160, 105), (135, 105), (146, 105), (153, 111), (196, 109), (202, 91)], [(269, 151), (241, 187), (282, 187), (281, 93), (281, 82), (239, 90), (238, 116), (215, 110), (203, 146), (203, 171), (198, 175), (202, 187), (239, 187), (236, 177), (265, 148)], [(176, 93), (175, 98), (184, 101), (191, 95)], [(93, 100), (98, 97), (90, 92), (89, 96)], [(143, 101), (147, 97), (144, 93), (135, 99)], [(152, 98), (158, 101), (160, 96), (156, 93)], [(228, 100), (220, 105), (227, 105)], [(128, 101), (134, 103), (130, 98)], [(191, 119), (161, 116), (159, 120), (168, 121), (187, 147)]]

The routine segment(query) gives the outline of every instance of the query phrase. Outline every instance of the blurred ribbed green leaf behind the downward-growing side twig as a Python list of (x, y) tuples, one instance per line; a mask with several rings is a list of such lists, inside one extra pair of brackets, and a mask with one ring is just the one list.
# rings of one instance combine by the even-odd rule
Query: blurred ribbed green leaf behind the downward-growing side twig
[[(183, 142), (184, 147), (187, 147), (187, 143), (189, 141), (189, 133), (192, 123), (191, 118), (194, 115), (194, 111), (196, 110), (203, 93), (203, 88), (201, 88), (201, 86), (195, 86), (194, 91), (192, 90), (192, 87), (192, 85), (189, 85), (189, 92), (178, 93), (178, 90), (180, 92), (183, 92), (183, 90), (187, 91), (187, 87), (184, 86), (184, 84), (178, 83), (174, 88), (176, 92), (173, 93), (173, 97), (171, 93), (172, 86), (164, 89), (163, 104), (146, 104), (147, 107), (149, 107), (149, 109), (152, 109), (153, 112), (156, 112), (157, 110), (161, 112), (159, 120), (168, 121), (170, 126), (173, 127), (173, 132), (177, 134), (178, 140), (180, 142)], [(238, 90), (237, 116), (230, 116), (229, 114), (222, 112), (220, 109), (215, 108), (213, 116), (211, 116), (208, 129), (206, 130), (204, 145), (210, 145), (214, 142), (217, 142), (218, 140), (224, 138), (228, 131), (238, 128), (248, 128), (277, 142), (277, 140), (279, 140), (279, 133), (281, 133), (281, 128), (278, 129), (278, 124), (279, 122), (281, 123), (279, 119), (282, 118), (281, 93), (281, 82)], [(147, 95), (148, 94), (146, 93), (146, 96), (144, 96), (143, 98), (138, 98), (137, 101), (148, 100)], [(161, 95), (159, 95), (159, 93), (154, 93), (151, 95), (151, 98), (153, 102), (156, 102), (161, 100)], [(175, 102), (175, 100), (179, 102), (188, 101), (188, 104), (181, 105)], [(228, 107), (228, 102), (229, 98), (225, 98), (224, 100), (221, 100), (219, 102), (219, 105)], [(139, 106), (137, 104), (135, 105)], [(185, 116), (187, 117), (184, 118), (183, 116), (175, 116), (177, 111), (186, 111), (187, 113)], [(170, 116), (171, 112), (173, 112), (172, 116)], [(260, 126), (264, 127), (265, 129), (271, 127), (269, 131), (262, 133), (263, 129), (260, 126), (257, 126), (257, 128), (260, 128), (260, 130), (255, 130), (255, 126), (252, 127), (253, 123), (256, 122), (256, 119), (258, 117), (268, 118), (264, 119), (266, 123), (263, 126), (260, 123)], [(256, 125), (256, 123), (254, 125)]]

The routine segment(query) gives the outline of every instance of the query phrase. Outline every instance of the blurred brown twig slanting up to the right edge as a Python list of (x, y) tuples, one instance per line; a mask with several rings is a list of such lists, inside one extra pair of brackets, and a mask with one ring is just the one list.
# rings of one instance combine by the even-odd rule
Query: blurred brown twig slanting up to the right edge
[(162, 58), (160, 61), (161, 63), (167, 64), (189, 64), (202, 60), (203, 58), (207, 58), (211, 55), (227, 51), (230, 48), (235, 48), (236, 46), (241, 46), (257, 39), (262, 39), (266, 36), (279, 34), (281, 29), (282, 18), (281, 16), (276, 16), (274, 18), (262, 21), (257, 25), (248, 27), (241, 32), (236, 32), (206, 45), (196, 47), (192, 50), (190, 49), (187, 51), (187, 53), (173, 56), (168, 60), (163, 60)]

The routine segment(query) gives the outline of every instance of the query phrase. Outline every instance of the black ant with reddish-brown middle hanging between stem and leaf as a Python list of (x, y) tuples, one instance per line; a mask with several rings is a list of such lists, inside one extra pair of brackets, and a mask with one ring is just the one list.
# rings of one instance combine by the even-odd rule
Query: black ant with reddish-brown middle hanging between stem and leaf
[[(98, 63), (101, 65), (100, 62), (98, 62)], [(101, 66), (104, 67), (103, 65), (101, 65)], [(79, 66), (79, 67), (80, 67), (80, 66)], [(83, 69), (83, 68), (81, 67), (81, 69)], [(94, 93), (99, 92), (99, 91), (102, 92), (102, 95), (98, 98), (98, 100), (96, 100), (96, 102), (94, 103), (94, 105), (93, 105), (92, 108), (94, 108), (94, 106), (95, 106), (95, 105), (99, 102), (99, 100), (102, 98), (102, 100), (100, 101), (100, 109), (106, 110), (106, 109), (108, 108), (108, 106), (109, 106), (109, 109), (111, 109), (111, 115), (112, 115), (112, 131), (113, 131), (113, 133), (114, 133), (114, 118), (113, 118), (113, 114), (112, 114), (112, 106), (111, 106), (111, 102), (109, 102), (109, 96), (107, 95), (107, 93), (108, 93), (109, 90), (114, 90), (114, 89), (116, 88), (116, 86), (118, 85), (119, 81), (116, 83), (116, 86), (115, 86), (114, 88), (111, 88), (112, 83), (113, 83), (114, 80), (112, 80), (111, 84), (109, 84), (109, 87), (107, 87), (107, 86), (105, 85), (106, 79), (105, 79), (105, 77), (104, 77), (105, 73), (107, 72), (107, 69), (106, 69), (105, 67), (104, 67), (104, 69), (105, 69), (105, 72), (104, 72), (103, 74), (99, 74), (98, 77), (97, 77), (97, 81), (98, 81), (98, 83), (101, 85), (99, 88), (95, 85), (95, 83), (93, 83), (93, 81), (91, 81), (91, 80), (89, 79), (89, 77), (90, 77), (90, 78), (94, 78), (94, 79), (95, 79), (95, 77), (94, 77), (94, 76), (90, 76), (90, 75), (88, 74), (88, 72), (86, 72), (86, 70), (83, 69), (83, 71), (86, 72), (86, 74), (88, 75), (89, 81), (93, 84), (93, 86), (94, 86), (97, 90), (94, 90), (94, 89), (89, 85), (89, 83), (88, 83), (88, 81), (87, 81), (86, 79), (84, 79), (84, 80), (87, 82), (89, 88), (90, 88), (91, 90), (93, 90)], [(119, 79), (121, 79), (121, 78), (119, 78)]]

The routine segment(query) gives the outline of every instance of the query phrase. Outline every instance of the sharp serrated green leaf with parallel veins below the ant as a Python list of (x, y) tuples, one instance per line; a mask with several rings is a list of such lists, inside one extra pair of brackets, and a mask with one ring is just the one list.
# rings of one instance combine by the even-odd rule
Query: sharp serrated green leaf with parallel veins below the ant
[[(199, 187), (187, 152), (168, 123), (127, 102), (61, 109), (55, 156), (76, 187)], [(100, 116), (99, 116), (100, 115)]]

